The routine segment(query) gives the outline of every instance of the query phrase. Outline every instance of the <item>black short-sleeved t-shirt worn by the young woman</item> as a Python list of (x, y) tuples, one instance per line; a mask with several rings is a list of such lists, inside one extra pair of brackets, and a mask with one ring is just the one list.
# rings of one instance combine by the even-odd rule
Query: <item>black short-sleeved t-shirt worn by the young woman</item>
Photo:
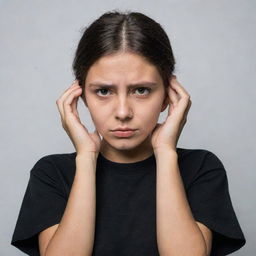
[[(177, 148), (187, 199), (196, 221), (213, 232), (211, 256), (227, 255), (246, 240), (229, 194), (226, 170), (205, 149)], [(39, 159), (21, 204), (11, 245), (40, 255), (38, 233), (61, 221), (75, 175), (76, 152)], [(156, 256), (156, 159), (117, 163), (101, 153), (96, 167), (93, 256)]]

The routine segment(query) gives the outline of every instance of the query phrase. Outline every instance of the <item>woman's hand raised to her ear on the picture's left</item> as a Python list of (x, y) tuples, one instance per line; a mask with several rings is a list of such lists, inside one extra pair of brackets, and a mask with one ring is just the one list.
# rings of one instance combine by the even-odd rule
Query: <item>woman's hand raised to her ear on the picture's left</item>
[(89, 133), (87, 128), (81, 123), (77, 101), (82, 93), (82, 88), (75, 80), (72, 85), (64, 91), (56, 101), (61, 116), (62, 127), (70, 137), (77, 155), (95, 153), (98, 156), (101, 145), (101, 138), (97, 129)]

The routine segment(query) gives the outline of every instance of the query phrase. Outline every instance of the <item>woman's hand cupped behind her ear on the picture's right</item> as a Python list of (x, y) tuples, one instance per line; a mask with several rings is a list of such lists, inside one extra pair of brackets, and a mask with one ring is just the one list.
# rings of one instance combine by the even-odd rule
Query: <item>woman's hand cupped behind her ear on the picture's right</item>
[(176, 145), (181, 131), (187, 121), (187, 114), (192, 104), (190, 95), (172, 76), (168, 88), (169, 110), (166, 120), (157, 123), (151, 135), (154, 152), (172, 150), (176, 152)]

